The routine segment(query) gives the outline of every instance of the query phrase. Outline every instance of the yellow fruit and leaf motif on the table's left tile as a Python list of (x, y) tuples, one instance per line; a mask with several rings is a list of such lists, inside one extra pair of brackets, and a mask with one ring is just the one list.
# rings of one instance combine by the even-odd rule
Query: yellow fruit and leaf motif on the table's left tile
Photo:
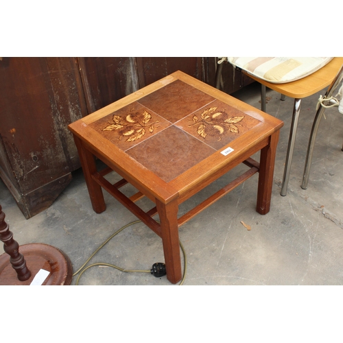
[[(133, 142), (141, 139), (147, 130), (152, 133), (158, 127), (154, 126), (158, 121), (150, 123), (151, 119), (152, 115), (147, 110), (144, 110), (143, 113), (129, 113), (126, 117), (113, 115), (113, 121), (108, 121), (108, 126), (102, 131), (118, 131), (119, 139), (126, 137), (126, 142)], [(145, 130), (147, 126), (149, 127)]]

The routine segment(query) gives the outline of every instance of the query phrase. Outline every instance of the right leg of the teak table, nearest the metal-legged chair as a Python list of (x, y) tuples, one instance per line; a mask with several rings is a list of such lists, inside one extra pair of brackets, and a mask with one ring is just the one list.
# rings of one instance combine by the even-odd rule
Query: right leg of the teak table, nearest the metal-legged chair
[(280, 131), (270, 136), (270, 143), (263, 147), (260, 156), (259, 187), (257, 190), (257, 212), (264, 215), (270, 210), (276, 147)]

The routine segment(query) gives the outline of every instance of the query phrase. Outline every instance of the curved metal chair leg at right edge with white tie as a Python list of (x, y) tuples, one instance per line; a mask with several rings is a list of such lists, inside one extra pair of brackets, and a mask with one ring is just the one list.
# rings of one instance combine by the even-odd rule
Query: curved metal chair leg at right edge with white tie
[[(338, 84), (343, 80), (343, 66), (341, 67), (340, 71), (335, 77), (335, 80), (331, 82), (331, 85), (327, 89), (327, 93), (325, 93), (324, 98), (329, 98), (332, 96), (333, 92), (335, 91), (335, 88), (337, 88)], [(324, 105), (328, 105), (329, 101), (325, 102)], [(324, 107), (320, 106), (318, 108), (318, 111), (316, 113), (316, 117), (314, 118), (314, 123), (312, 124), (311, 134), (309, 136), (309, 145), (307, 147), (307, 155), (305, 159), (305, 169), (304, 169), (304, 175), (303, 175), (303, 183), (301, 185), (301, 188), (307, 189), (307, 183), (309, 182), (309, 169), (311, 167), (311, 161), (312, 161), (312, 154), (314, 152), (314, 143), (316, 142), (316, 136), (319, 128), (320, 119), (322, 119), (322, 115), (324, 114)], [(343, 147), (342, 147), (343, 151)]]

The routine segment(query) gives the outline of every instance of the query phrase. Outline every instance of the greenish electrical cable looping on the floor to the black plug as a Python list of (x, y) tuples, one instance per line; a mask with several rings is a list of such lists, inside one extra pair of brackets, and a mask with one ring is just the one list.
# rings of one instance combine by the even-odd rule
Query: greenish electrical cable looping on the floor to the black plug
[[(88, 265), (86, 268), (84, 268), (84, 266), (89, 262), (91, 261), (91, 259), (94, 257), (95, 254), (97, 254), (97, 252), (102, 249), (107, 243), (108, 241), (110, 241), (110, 239), (113, 239), (113, 237), (115, 237), (116, 235), (118, 235), (118, 233), (121, 233), (122, 230), (124, 230), (125, 228), (128, 228), (128, 226), (131, 226), (133, 224), (137, 224), (137, 223), (140, 223), (141, 220), (137, 220), (135, 222), (132, 222), (130, 224), (127, 224), (126, 226), (123, 226), (122, 228), (119, 228), (119, 230), (117, 230), (113, 235), (111, 235), (110, 237), (108, 237), (108, 239), (106, 239), (106, 241), (104, 241), (104, 243), (99, 246), (99, 248), (97, 248), (97, 250), (95, 250), (95, 252), (93, 252), (93, 254), (91, 255), (91, 257), (89, 257), (87, 259), (87, 261), (79, 268), (79, 270), (77, 272), (75, 272), (73, 274), (73, 276), (76, 276), (77, 274), (80, 273), (80, 275), (78, 276), (78, 279), (76, 280), (76, 285), (78, 285), (79, 283), (79, 280), (80, 280), (80, 277), (82, 276), (82, 274), (89, 268), (91, 267), (94, 267), (95, 265), (104, 265), (104, 266), (107, 266), (107, 267), (111, 267), (111, 268), (115, 268), (117, 270), (120, 270), (121, 272), (144, 272), (144, 273), (147, 273), (149, 272), (150, 273), (150, 270), (126, 270), (126, 269), (123, 269), (123, 268), (120, 268), (118, 267), (117, 265), (113, 265), (113, 264), (110, 264), (110, 263), (93, 263), (91, 265)], [(185, 249), (183, 248), (181, 242), (180, 242), (180, 247), (181, 247), (181, 250), (182, 250), (182, 254), (183, 254), (183, 257), (184, 257), (184, 272), (183, 272), (183, 276), (182, 276), (182, 279), (180, 281), (180, 284), (179, 285), (182, 285), (185, 281), (185, 278), (186, 278), (186, 272), (187, 272), (187, 257), (186, 257), (186, 253), (185, 253)], [(83, 269), (84, 268), (84, 269)]]

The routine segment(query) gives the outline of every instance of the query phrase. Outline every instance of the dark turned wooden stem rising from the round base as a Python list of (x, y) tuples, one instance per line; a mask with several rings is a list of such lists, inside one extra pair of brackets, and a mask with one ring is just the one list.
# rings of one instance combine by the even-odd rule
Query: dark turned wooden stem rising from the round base
[(10, 263), (16, 271), (19, 281), (26, 281), (31, 277), (31, 272), (27, 269), (26, 261), (19, 252), (19, 244), (13, 239), (10, 226), (5, 222), (5, 213), (0, 205), (0, 239), (3, 241), (3, 250), (10, 255)]

